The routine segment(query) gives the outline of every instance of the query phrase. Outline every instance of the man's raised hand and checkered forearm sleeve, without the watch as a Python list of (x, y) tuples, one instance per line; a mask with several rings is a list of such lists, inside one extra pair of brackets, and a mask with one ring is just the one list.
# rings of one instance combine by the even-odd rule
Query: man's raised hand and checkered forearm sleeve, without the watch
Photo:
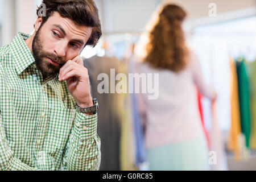
[[(76, 77), (76, 79), (74, 79)], [(67, 61), (60, 69), (59, 81), (67, 81), (67, 89), (80, 107), (93, 105), (88, 69), (81, 56)], [(97, 114), (76, 112), (75, 126), (64, 152), (63, 168), (68, 170), (98, 170), (100, 168), (100, 138), (97, 135)]]

